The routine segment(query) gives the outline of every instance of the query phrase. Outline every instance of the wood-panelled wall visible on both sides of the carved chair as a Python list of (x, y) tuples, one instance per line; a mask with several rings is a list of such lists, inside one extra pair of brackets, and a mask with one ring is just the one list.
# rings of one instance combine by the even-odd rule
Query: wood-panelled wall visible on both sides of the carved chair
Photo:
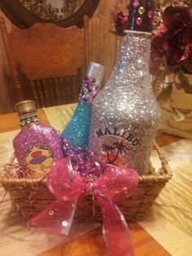
[[(90, 42), (92, 61), (105, 65), (105, 76), (103, 84), (110, 77), (111, 70), (116, 64), (116, 56), (122, 42), (122, 38), (111, 33), (113, 24), (111, 22), (111, 11), (114, 8), (126, 7), (129, 1), (125, 0), (100, 0), (97, 10), (90, 20)], [(0, 15), (2, 11), (0, 10)], [(7, 20), (7, 29), (11, 29), (11, 22)], [(0, 114), (11, 113), (11, 77), (7, 65), (7, 58), (0, 35)]]

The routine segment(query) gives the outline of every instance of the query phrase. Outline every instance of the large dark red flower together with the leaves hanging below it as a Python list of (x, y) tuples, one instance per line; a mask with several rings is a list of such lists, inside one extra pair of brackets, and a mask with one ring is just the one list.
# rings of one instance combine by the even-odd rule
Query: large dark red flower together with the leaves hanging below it
[[(172, 86), (192, 93), (186, 74), (192, 73), (192, 9), (190, 7), (167, 7), (162, 14), (163, 26), (157, 29), (151, 41), (151, 73), (155, 75), (155, 92), (163, 85), (157, 99), (159, 103), (169, 98)], [(158, 67), (157, 70), (155, 68)], [(166, 75), (172, 80), (166, 82)]]

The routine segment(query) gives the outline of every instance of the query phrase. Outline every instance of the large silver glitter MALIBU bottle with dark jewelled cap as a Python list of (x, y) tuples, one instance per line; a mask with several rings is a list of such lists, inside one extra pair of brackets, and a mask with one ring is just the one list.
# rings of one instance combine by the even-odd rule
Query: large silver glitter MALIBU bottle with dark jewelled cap
[(99, 160), (147, 174), (159, 123), (149, 73), (154, 1), (130, 1), (129, 30), (92, 106), (89, 148)]

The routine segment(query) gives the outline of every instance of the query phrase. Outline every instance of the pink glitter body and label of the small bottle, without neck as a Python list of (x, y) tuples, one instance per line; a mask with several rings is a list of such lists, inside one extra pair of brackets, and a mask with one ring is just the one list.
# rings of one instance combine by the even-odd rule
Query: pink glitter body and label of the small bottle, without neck
[(43, 177), (53, 162), (63, 157), (57, 131), (41, 123), (24, 126), (15, 136), (13, 148), (17, 161), (20, 165), (28, 166), (29, 176), (34, 178)]

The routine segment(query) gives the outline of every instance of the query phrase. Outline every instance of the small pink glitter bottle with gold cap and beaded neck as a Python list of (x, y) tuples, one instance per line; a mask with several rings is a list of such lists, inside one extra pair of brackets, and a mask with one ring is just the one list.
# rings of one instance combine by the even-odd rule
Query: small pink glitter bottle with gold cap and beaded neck
[(59, 135), (39, 122), (33, 100), (21, 101), (15, 109), (22, 128), (13, 140), (15, 157), (25, 167), (26, 177), (43, 178), (54, 161), (63, 157)]

